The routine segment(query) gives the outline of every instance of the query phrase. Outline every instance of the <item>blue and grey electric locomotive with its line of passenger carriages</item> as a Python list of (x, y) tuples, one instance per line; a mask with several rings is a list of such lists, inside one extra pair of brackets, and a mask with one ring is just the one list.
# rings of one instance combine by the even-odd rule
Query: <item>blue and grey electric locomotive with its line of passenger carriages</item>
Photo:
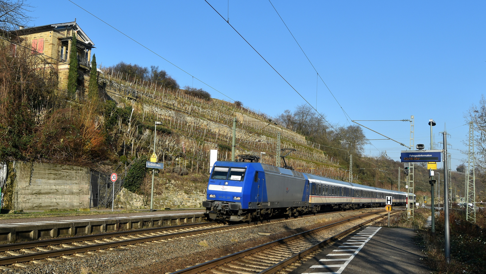
[(272, 215), (298, 216), (323, 209), (355, 209), (384, 206), (386, 196), (394, 205), (405, 205), (412, 193), (356, 183), (249, 162), (214, 164), (208, 182), (209, 219), (249, 221)]

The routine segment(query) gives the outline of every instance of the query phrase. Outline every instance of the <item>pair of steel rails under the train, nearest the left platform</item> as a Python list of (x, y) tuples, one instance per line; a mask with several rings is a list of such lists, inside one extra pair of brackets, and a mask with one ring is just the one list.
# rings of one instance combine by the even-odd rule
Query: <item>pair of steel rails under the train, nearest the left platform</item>
[[(356, 209), (356, 210), (363, 210), (363, 209)], [(379, 211), (379, 212), (381, 212), (381, 211)], [(316, 215), (302, 216), (301, 218), (311, 218), (311, 217), (314, 217), (314, 216), (328, 215), (328, 214), (334, 214), (334, 213), (337, 213), (337, 212), (326, 212), (326, 213), (321, 213), (321, 214), (316, 214)], [(370, 214), (376, 214), (376, 212), (370, 213)], [(362, 216), (367, 216), (367, 215), (369, 215), (369, 214), (362, 215)], [(355, 217), (355, 218), (359, 218), (359, 217)], [(277, 222), (277, 221), (282, 221), (282, 220), (287, 220), (287, 219), (289, 219), (289, 218), (264, 220), (260, 223)], [(255, 224), (258, 224), (258, 223), (259, 222), (256, 222)], [(200, 224), (203, 224), (203, 223), (200, 223)], [(204, 225), (200, 225), (200, 226), (205, 226), (207, 224), (208, 223), (204, 223)], [(226, 226), (220, 226), (220, 227), (197, 229), (197, 230), (191, 230), (191, 231), (175, 232), (175, 233), (164, 234), (164, 235), (154, 235), (154, 236), (147, 236), (147, 237), (134, 238), (134, 239), (117, 240), (117, 241), (107, 242), (107, 243), (97, 243), (97, 244), (90, 244), (90, 245), (88, 244), (88, 245), (85, 245), (85, 246), (75, 246), (75, 247), (63, 248), (63, 249), (59, 249), (59, 250), (36, 252), (36, 253), (32, 253), (32, 254), (7, 256), (7, 257), (0, 258), (0, 265), (9, 265), (9, 264), (17, 263), (17, 262), (27, 262), (27, 261), (40, 260), (40, 259), (45, 259), (45, 258), (50, 258), (50, 257), (72, 255), (72, 254), (75, 254), (75, 253), (95, 251), (95, 250), (99, 250), (99, 249), (117, 248), (119, 246), (133, 245), (133, 244), (137, 244), (137, 243), (143, 243), (143, 242), (148, 242), (148, 241), (156, 241), (156, 240), (162, 240), (162, 239), (168, 239), (168, 238), (174, 238), (174, 237), (182, 237), (182, 236), (188, 236), (188, 235), (193, 235), (193, 234), (208, 233), (208, 232), (213, 232), (213, 231), (218, 231), (218, 230), (226, 230), (226, 229), (232, 229), (232, 228), (238, 228), (238, 227), (252, 226), (252, 225), (255, 225), (255, 224), (254, 223), (241, 223), (241, 224), (226, 225)], [(191, 225), (197, 227), (196, 224), (191, 224)], [(177, 229), (181, 229), (181, 226), (185, 226), (183, 228), (188, 228), (187, 226), (191, 226), (191, 225), (180, 225), (180, 226), (177, 226), (178, 227)], [(148, 230), (151, 230), (152, 232), (164, 231), (164, 230), (174, 230), (174, 226), (164, 227), (164, 228), (130, 230), (130, 231), (125, 231), (125, 232), (111, 232), (111, 233), (107, 233), (107, 234), (96, 234), (96, 235), (87, 235), (87, 236), (79, 236), (79, 237), (67, 237), (67, 238), (60, 238), (60, 239), (41, 240), (41, 241), (33, 241), (33, 242), (27, 242), (27, 243), (6, 244), (6, 245), (2, 245), (0, 247), (3, 248), (3, 251), (19, 250), (19, 249), (23, 249), (23, 248), (33, 248), (33, 247), (48, 246), (48, 245), (54, 245), (54, 244), (72, 243), (72, 242), (77, 242), (77, 241), (81, 241), (81, 240), (86, 241), (86, 240), (89, 240), (89, 239), (96, 239), (96, 238), (103, 239), (103, 238), (107, 238), (107, 236), (117, 237), (117, 236), (113, 236), (113, 235), (118, 235), (118, 237), (125, 236), (125, 235), (136, 235), (136, 234), (140, 234), (139, 232), (141, 232), (141, 231), (143, 231), (143, 233), (149, 233), (149, 232), (147, 232)], [(94, 237), (96, 237), (96, 238), (94, 238)], [(12, 248), (14, 246), (16, 246), (16, 247)], [(5, 249), (5, 248), (8, 248), (8, 247), (10, 247), (10, 248)]]

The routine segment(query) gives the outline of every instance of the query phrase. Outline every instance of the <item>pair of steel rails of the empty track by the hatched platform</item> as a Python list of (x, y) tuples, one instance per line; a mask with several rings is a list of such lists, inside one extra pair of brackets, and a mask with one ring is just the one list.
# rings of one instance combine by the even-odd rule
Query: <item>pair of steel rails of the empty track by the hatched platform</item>
[[(229, 262), (232, 262), (234, 260), (237, 260), (237, 259), (240, 259), (240, 258), (243, 258), (245, 256), (249, 256), (249, 255), (252, 255), (254, 253), (257, 253), (257, 252), (260, 252), (260, 251), (263, 251), (263, 250), (266, 250), (268, 248), (271, 248), (271, 247), (274, 247), (276, 245), (279, 245), (279, 244), (282, 244), (282, 243), (285, 243), (285, 242), (288, 242), (290, 240), (293, 240), (295, 238), (300, 238), (300, 237), (304, 237), (304, 236), (307, 236), (309, 234), (312, 234), (314, 232), (317, 232), (319, 230), (323, 230), (323, 229), (328, 229), (328, 228), (331, 228), (333, 226), (337, 226), (337, 225), (340, 225), (340, 224), (344, 224), (344, 223), (347, 223), (349, 221), (352, 221), (352, 220), (356, 220), (356, 219), (361, 219), (363, 217), (366, 217), (366, 216), (370, 216), (370, 215), (374, 215), (374, 214), (380, 214), (382, 212), (385, 212), (384, 210), (382, 211), (378, 211), (378, 212), (373, 212), (373, 213), (368, 213), (368, 214), (365, 214), (365, 215), (361, 215), (361, 216), (356, 216), (356, 217), (353, 217), (353, 218), (350, 218), (350, 219), (346, 219), (346, 220), (342, 220), (342, 221), (338, 221), (338, 222), (335, 222), (335, 223), (331, 223), (331, 224), (328, 224), (328, 225), (325, 225), (325, 226), (321, 226), (321, 227), (318, 227), (318, 228), (314, 228), (314, 229), (311, 229), (311, 230), (308, 230), (308, 231), (304, 231), (304, 232), (301, 232), (301, 233), (298, 233), (298, 234), (295, 234), (295, 235), (292, 235), (292, 236), (289, 236), (289, 237), (285, 237), (285, 238), (281, 238), (281, 239), (278, 239), (278, 240), (275, 240), (275, 241), (271, 241), (271, 242), (268, 242), (268, 243), (265, 243), (265, 244), (262, 244), (262, 245), (259, 245), (259, 246), (256, 246), (256, 247), (253, 247), (253, 248), (249, 248), (249, 249), (246, 249), (246, 250), (243, 250), (243, 251), (240, 251), (240, 252), (237, 252), (237, 253), (234, 253), (234, 254), (231, 254), (231, 255), (227, 255), (227, 256), (223, 256), (221, 258), (217, 258), (217, 259), (214, 259), (214, 260), (211, 260), (211, 261), (208, 261), (208, 262), (205, 262), (205, 263), (202, 263), (202, 264), (198, 264), (198, 265), (195, 265), (195, 266), (192, 266), (192, 267), (189, 267), (189, 268), (186, 268), (186, 269), (182, 269), (182, 270), (179, 270), (179, 271), (175, 271), (171, 274), (198, 274), (198, 273), (202, 273), (204, 271), (207, 271), (209, 269), (212, 269), (212, 268), (215, 268), (215, 267), (218, 267), (218, 266), (221, 266), (223, 264), (226, 264), (226, 263), (229, 263)], [(396, 212), (395, 212), (396, 213)], [(364, 224), (368, 223), (368, 222), (371, 222), (371, 221), (374, 221), (376, 219), (380, 219), (382, 218), (384, 215), (380, 215), (380, 216), (377, 216), (375, 218), (372, 218), (372, 219), (369, 219), (369, 220), (365, 220), (364, 222), (358, 224), (358, 225), (355, 225), (343, 232), (340, 232), (339, 234), (336, 234), (332, 237), (329, 237), (328, 239), (324, 240), (324, 241), (321, 241), (293, 256), (290, 256), (278, 263), (276, 263), (275, 265), (261, 271), (260, 273), (258, 274), (267, 274), (268, 272), (271, 272), (272, 270), (274, 270), (274, 272), (280, 270), (280, 269), (283, 269), (285, 267), (287, 267), (288, 264), (304, 257), (304, 256), (307, 256), (309, 253), (311, 253), (312, 251), (322, 247), (322, 246), (325, 246), (327, 245), (330, 241), (334, 240), (334, 239), (337, 239), (338, 237), (341, 237), (343, 235), (346, 235), (347, 233), (355, 230), (356, 228), (359, 228), (361, 226), (363, 226)]]

